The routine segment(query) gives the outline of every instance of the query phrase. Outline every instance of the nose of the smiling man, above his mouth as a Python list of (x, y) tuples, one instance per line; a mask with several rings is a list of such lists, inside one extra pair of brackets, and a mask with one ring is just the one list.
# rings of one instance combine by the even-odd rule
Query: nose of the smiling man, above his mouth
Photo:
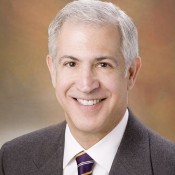
[(91, 69), (83, 69), (79, 72), (77, 89), (83, 93), (91, 93), (100, 86), (97, 75)]

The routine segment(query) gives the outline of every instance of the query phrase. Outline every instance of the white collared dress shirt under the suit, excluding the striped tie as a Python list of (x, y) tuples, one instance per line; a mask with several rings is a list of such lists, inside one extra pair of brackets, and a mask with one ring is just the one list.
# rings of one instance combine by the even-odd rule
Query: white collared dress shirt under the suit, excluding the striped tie
[(74, 157), (83, 150), (95, 161), (93, 175), (108, 175), (120, 142), (123, 138), (127, 122), (128, 110), (126, 110), (120, 123), (88, 150), (84, 150), (83, 147), (76, 141), (67, 125), (65, 131), (63, 175), (78, 174), (77, 163)]

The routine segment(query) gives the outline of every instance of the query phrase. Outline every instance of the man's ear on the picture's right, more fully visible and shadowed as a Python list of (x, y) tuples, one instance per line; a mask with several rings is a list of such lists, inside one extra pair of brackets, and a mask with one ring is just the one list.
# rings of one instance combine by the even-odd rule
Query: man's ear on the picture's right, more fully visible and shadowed
[(131, 64), (131, 66), (128, 69), (128, 90), (132, 89), (132, 87), (135, 84), (137, 75), (139, 73), (139, 70), (141, 68), (142, 62), (141, 58), (137, 57)]

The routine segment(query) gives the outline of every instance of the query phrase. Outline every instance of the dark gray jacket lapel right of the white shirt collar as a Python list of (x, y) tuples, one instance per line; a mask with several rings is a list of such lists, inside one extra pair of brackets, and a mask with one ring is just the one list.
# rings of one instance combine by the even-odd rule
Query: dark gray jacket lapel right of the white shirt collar
[(130, 112), (126, 131), (109, 175), (151, 175), (147, 129)]

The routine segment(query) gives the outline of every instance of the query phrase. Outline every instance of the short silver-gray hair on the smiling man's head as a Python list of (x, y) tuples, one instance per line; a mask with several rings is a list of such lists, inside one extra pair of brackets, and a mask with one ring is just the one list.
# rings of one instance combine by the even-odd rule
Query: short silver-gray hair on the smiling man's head
[(66, 21), (83, 22), (87, 24), (112, 24), (121, 33), (121, 53), (125, 59), (126, 70), (138, 56), (138, 34), (131, 18), (119, 7), (110, 2), (98, 0), (77, 0), (67, 4), (51, 22), (48, 34), (49, 54), (57, 57), (58, 33)]

